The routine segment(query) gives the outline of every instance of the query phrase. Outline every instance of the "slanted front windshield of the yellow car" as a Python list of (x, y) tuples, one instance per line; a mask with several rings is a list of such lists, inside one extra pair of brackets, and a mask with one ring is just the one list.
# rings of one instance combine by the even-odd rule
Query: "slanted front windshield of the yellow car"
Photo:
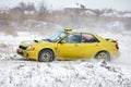
[(53, 35), (53, 36), (47, 38), (47, 40), (50, 41), (50, 42), (57, 42), (58, 40), (60, 40), (64, 36), (66, 36), (66, 33), (61, 32), (57, 35)]

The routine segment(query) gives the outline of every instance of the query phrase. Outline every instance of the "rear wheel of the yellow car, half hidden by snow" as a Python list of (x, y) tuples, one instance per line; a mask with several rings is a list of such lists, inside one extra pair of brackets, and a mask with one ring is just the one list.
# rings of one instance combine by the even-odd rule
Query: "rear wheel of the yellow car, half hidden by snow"
[(100, 51), (95, 57), (97, 60), (110, 61), (110, 54), (107, 51)]

